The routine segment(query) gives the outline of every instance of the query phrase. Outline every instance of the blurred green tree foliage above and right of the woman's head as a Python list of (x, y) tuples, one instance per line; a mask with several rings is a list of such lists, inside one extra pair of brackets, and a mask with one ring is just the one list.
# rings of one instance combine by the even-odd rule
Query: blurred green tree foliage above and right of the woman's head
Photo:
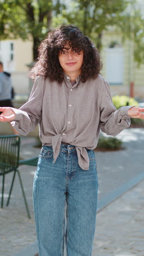
[(137, 0), (71, 0), (71, 7), (63, 9), (52, 22), (53, 26), (73, 24), (80, 27), (99, 50), (103, 32), (113, 26), (121, 31), (123, 39), (133, 40), (135, 61), (144, 63), (144, 20)]

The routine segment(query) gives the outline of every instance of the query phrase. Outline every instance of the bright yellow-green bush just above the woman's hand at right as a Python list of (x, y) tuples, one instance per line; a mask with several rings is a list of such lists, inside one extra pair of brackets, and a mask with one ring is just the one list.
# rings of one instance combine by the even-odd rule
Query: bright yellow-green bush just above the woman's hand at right
[(119, 96), (119, 95), (116, 95), (116, 96), (113, 96), (112, 97), (112, 101), (113, 101), (113, 104), (115, 105), (115, 107), (118, 109), (118, 108), (121, 108), (123, 106), (138, 106), (138, 102), (135, 101), (134, 98), (130, 98), (128, 96)]

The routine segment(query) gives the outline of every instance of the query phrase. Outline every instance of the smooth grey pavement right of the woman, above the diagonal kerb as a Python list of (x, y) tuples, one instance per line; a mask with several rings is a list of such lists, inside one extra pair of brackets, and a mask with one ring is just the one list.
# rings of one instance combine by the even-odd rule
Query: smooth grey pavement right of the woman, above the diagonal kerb
[(144, 171), (144, 129), (126, 129), (116, 137), (122, 139), (125, 150), (95, 153), (99, 199)]

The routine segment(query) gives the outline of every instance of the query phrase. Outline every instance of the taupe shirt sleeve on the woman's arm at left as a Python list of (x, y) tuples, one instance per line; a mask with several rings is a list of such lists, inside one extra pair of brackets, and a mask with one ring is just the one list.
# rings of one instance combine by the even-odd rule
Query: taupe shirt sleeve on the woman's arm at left
[(28, 102), (23, 104), (20, 109), (11, 108), (16, 114), (15, 120), (11, 121), (11, 125), (13, 125), (21, 135), (27, 135), (28, 132), (33, 131), (41, 120), (43, 84), (44, 79), (37, 77)]

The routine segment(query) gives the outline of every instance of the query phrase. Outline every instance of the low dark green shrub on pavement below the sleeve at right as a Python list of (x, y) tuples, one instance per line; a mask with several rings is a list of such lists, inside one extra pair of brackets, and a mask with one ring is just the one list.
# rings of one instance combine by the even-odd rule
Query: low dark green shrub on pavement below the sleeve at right
[(122, 149), (122, 141), (113, 137), (100, 136), (96, 149), (104, 151)]

